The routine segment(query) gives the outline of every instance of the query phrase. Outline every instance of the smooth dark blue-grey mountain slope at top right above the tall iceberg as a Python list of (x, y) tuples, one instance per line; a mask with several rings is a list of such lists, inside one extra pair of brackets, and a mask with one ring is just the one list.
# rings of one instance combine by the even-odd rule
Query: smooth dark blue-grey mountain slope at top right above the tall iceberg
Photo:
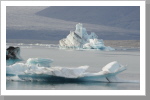
[(36, 14), (66, 21), (140, 29), (138, 6), (53, 6)]

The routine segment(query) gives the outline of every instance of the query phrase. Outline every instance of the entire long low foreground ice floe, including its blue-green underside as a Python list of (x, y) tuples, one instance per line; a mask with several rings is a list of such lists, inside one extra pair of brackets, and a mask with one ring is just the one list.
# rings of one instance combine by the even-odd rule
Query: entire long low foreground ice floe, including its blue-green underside
[[(43, 63), (45, 61), (48, 62), (49, 66)], [(21, 80), (42, 79), (55, 81), (59, 78), (64, 78), (86, 81), (93, 79), (97, 80), (104, 77), (108, 82), (126, 82), (116, 77), (118, 73), (126, 69), (125, 66), (121, 65), (117, 61), (110, 62), (104, 66), (101, 71), (95, 73), (87, 72), (89, 66), (79, 66), (76, 68), (50, 67), (51, 62), (52, 60), (45, 58), (30, 58), (26, 63), (15, 63), (7, 66), (6, 74), (9, 78), (12, 75), (15, 77), (18, 76)], [(55, 77), (54, 80), (53, 77)]]

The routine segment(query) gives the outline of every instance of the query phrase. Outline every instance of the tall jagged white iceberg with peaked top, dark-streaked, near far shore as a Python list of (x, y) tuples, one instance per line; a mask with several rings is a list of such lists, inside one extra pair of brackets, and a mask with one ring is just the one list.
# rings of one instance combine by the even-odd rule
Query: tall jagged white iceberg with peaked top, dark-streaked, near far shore
[(70, 31), (70, 34), (59, 41), (60, 48), (82, 48), (82, 49), (100, 49), (100, 50), (115, 50), (111, 47), (106, 47), (102, 39), (91, 32), (88, 34), (86, 28), (81, 23), (76, 24), (75, 31)]

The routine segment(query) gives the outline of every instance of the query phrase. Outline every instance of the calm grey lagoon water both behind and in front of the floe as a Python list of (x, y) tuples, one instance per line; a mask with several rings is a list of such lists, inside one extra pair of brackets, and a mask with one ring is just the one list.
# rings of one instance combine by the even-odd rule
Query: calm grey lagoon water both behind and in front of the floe
[[(137, 49), (119, 49), (117, 51), (99, 50), (61, 50), (53, 44), (7, 44), (21, 47), (23, 63), (28, 58), (50, 58), (51, 66), (76, 68), (88, 65), (88, 72), (98, 72), (106, 64), (118, 61), (128, 65), (127, 70), (118, 77), (125, 80), (140, 81), (140, 52)], [(107, 83), (103, 81), (10, 81), (6, 82), (7, 90), (138, 90), (140, 83)]]

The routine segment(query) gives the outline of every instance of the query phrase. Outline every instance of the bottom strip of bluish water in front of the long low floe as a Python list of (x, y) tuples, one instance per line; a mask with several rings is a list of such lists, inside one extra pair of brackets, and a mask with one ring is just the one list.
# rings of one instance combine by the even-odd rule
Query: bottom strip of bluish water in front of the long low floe
[(139, 83), (83, 82), (13, 82), (7, 81), (7, 90), (138, 90)]

